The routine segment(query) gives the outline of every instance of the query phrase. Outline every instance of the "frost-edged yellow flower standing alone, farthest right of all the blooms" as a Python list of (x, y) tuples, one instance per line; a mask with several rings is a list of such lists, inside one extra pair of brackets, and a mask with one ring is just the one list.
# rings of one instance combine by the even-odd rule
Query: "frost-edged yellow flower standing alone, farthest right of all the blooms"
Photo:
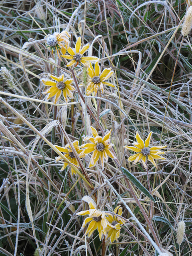
[(128, 158), (128, 161), (134, 161), (136, 164), (139, 160), (142, 160), (143, 165), (146, 168), (146, 157), (152, 164), (157, 167), (156, 162), (154, 159), (166, 159), (162, 156), (159, 156), (160, 154), (164, 154), (165, 152), (161, 151), (161, 148), (166, 148), (166, 146), (158, 146), (158, 147), (151, 147), (149, 148), (149, 142), (152, 136), (152, 132), (149, 133), (148, 137), (146, 138), (145, 142), (142, 140), (138, 132), (136, 133), (136, 140), (137, 142), (134, 142), (132, 146), (125, 146), (124, 148), (127, 148), (129, 150), (132, 150), (136, 152), (137, 154), (134, 154), (133, 156), (130, 156)]

